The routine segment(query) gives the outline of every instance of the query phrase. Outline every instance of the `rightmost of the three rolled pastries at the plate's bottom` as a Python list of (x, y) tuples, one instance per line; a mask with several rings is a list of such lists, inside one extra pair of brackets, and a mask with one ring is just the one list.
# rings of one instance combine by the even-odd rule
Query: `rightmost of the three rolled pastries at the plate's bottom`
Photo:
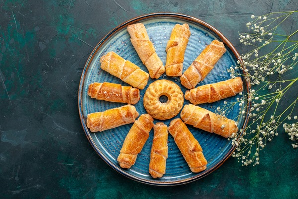
[(207, 161), (203, 155), (203, 150), (185, 123), (179, 118), (172, 120), (169, 133), (174, 137), (190, 170), (195, 173), (205, 170)]

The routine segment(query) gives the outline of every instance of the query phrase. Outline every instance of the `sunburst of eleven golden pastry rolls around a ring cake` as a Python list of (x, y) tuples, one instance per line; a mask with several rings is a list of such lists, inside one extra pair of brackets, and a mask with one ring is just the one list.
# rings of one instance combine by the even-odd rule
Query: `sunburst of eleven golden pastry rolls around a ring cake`
[[(100, 58), (101, 69), (135, 88), (109, 82), (91, 83), (87, 92), (91, 98), (128, 105), (88, 114), (87, 127), (91, 132), (100, 132), (133, 123), (117, 158), (121, 168), (129, 169), (135, 164), (138, 154), (142, 151), (154, 127), (149, 163), (149, 173), (153, 178), (161, 178), (166, 173), (168, 133), (174, 138), (190, 170), (195, 173), (205, 170), (207, 160), (203, 149), (186, 124), (225, 138), (238, 132), (235, 121), (196, 106), (235, 96), (243, 91), (240, 77), (195, 88), (226, 52), (223, 42), (212, 41), (182, 74), (184, 53), (190, 37), (188, 24), (176, 24), (172, 29), (165, 49), (167, 52), (165, 67), (156, 54), (142, 23), (129, 25), (127, 31), (132, 45), (149, 74), (114, 52), (103, 55)], [(172, 81), (165, 79), (154, 81), (148, 86), (143, 97), (143, 105), (148, 114), (142, 114), (137, 119), (139, 113), (133, 105), (140, 100), (139, 89), (146, 87), (149, 76), (157, 79), (164, 72), (167, 76), (181, 76), (181, 84), (190, 90), (187, 90), (184, 95), (180, 87)], [(162, 96), (166, 96), (168, 100), (161, 102)], [(184, 97), (192, 104), (183, 107)], [(169, 127), (162, 122), (154, 125), (154, 119), (171, 119), (178, 115), (181, 109), (181, 119), (172, 120)]]

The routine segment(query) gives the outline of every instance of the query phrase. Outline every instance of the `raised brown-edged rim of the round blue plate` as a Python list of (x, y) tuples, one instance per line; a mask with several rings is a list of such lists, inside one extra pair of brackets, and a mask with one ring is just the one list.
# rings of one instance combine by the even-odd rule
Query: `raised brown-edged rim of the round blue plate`
[[(112, 29), (108, 34), (106, 34), (96, 45), (96, 47), (92, 50), (92, 52), (90, 53), (90, 56), (88, 57), (86, 64), (84, 66), (84, 69), (82, 71), (82, 75), (80, 78), (80, 83), (79, 83), (79, 89), (78, 89), (78, 109), (79, 109), (79, 116), (80, 116), (80, 120), (81, 120), (81, 124), (83, 127), (83, 130), (85, 132), (85, 135), (87, 137), (87, 139), (89, 140), (91, 146), (93, 147), (93, 149), (96, 151), (96, 153), (101, 157), (101, 159), (107, 163), (110, 167), (112, 167), (114, 170), (116, 170), (118, 173), (128, 177), (129, 179), (141, 182), (141, 183), (145, 183), (145, 184), (149, 184), (149, 185), (157, 185), (157, 186), (173, 186), (173, 185), (181, 185), (181, 184), (186, 184), (186, 183), (190, 183), (193, 182), (195, 180), (201, 179), (207, 175), (209, 175), (210, 173), (212, 173), (213, 171), (217, 170), (222, 164), (224, 164), (224, 162), (232, 155), (232, 153), (235, 151), (236, 147), (232, 146), (231, 149), (224, 155), (224, 158), (222, 160), (219, 161), (219, 163), (217, 163), (215, 166), (213, 166), (212, 168), (207, 169), (207, 172), (202, 173), (202, 175), (200, 175), (200, 173), (198, 173), (198, 175), (193, 176), (191, 178), (187, 178), (187, 179), (182, 179), (182, 180), (178, 180), (178, 181), (173, 181), (173, 182), (162, 182), (162, 181), (149, 181), (149, 180), (144, 180), (141, 179), (137, 176), (128, 174), (126, 172), (123, 172), (122, 170), (120, 170), (119, 168), (115, 168), (113, 163), (111, 161), (109, 161), (99, 150), (99, 148), (94, 144), (94, 141), (92, 141), (92, 138), (89, 135), (89, 131), (87, 129), (86, 123), (85, 123), (85, 119), (83, 117), (83, 107), (82, 107), (82, 96), (83, 96), (83, 83), (85, 81), (85, 74), (86, 71), (88, 70), (90, 63), (93, 61), (94, 55), (96, 54), (96, 52), (100, 49), (100, 47), (105, 43), (106, 40), (108, 40), (110, 37), (113, 36), (113, 34), (125, 27), (127, 27), (128, 25), (132, 24), (132, 23), (136, 23), (140, 20), (144, 20), (147, 18), (152, 18), (152, 17), (174, 17), (174, 18), (180, 18), (183, 20), (187, 20), (190, 22), (194, 22), (197, 24), (200, 24), (202, 26), (204, 26), (205, 28), (210, 29), (213, 33), (215, 33), (221, 40), (222, 42), (227, 45), (229, 47), (229, 49), (232, 51), (232, 53), (234, 54), (234, 56), (240, 61), (240, 65), (243, 66), (243, 60), (240, 57), (240, 54), (238, 53), (238, 51), (235, 49), (235, 47), (232, 45), (232, 43), (220, 32), (218, 31), (216, 28), (214, 28), (213, 26), (211, 26), (210, 24), (206, 23), (205, 21), (202, 21), (198, 18), (195, 18), (193, 16), (189, 16), (189, 15), (185, 15), (185, 14), (181, 14), (181, 13), (172, 13), (172, 12), (156, 12), (156, 13), (149, 13), (149, 14), (144, 14), (144, 15), (140, 15), (134, 18), (131, 18), (123, 23), (121, 23), (120, 25), (118, 25), (117, 27), (115, 27), (114, 29)], [(245, 75), (246, 72), (244, 70), (242, 70), (242, 73)], [(245, 80), (245, 82), (243, 84), (246, 84), (246, 89), (247, 92), (249, 92), (250, 89), (250, 82), (249, 80)], [(245, 128), (248, 124), (248, 113), (249, 113), (249, 108), (250, 107), (250, 102), (248, 102), (247, 106), (246, 106), (246, 110), (245, 110), (245, 120), (243, 123), (243, 126), (241, 129)], [(243, 133), (240, 132), (240, 134), (238, 135), (238, 139), (240, 139), (243, 136)]]

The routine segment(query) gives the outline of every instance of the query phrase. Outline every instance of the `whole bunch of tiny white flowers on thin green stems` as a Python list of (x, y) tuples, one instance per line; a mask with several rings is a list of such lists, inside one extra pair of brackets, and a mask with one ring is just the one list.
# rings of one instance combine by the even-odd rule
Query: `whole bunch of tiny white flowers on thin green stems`
[[(243, 166), (250, 164), (255, 166), (260, 163), (260, 150), (278, 136), (277, 129), (282, 125), (284, 118), (297, 119), (297, 116), (290, 115), (295, 109), (298, 98), (294, 99), (293, 103), (288, 101), (287, 110), (291, 110), (290, 114), (287, 113), (289, 115), (285, 115), (286, 111), (279, 112), (277, 108), (288, 89), (296, 81), (298, 82), (298, 77), (287, 80), (282, 76), (297, 66), (298, 42), (289, 40), (289, 37), (298, 33), (298, 30), (292, 31), (292, 35), (277, 33), (278, 26), (293, 13), (294, 11), (270, 13), (261, 17), (252, 15), (253, 21), (246, 23), (249, 32), (239, 33), (240, 43), (251, 50), (241, 55), (242, 62), (238, 60), (238, 65), (231, 66), (227, 71), (232, 78), (243, 76), (250, 82), (251, 88), (248, 93), (241, 93), (236, 102), (224, 103), (223, 106), (218, 107), (217, 113), (225, 116), (232, 108), (237, 108), (239, 115), (243, 116), (245, 115), (243, 110), (250, 108), (249, 123), (244, 129), (240, 129), (241, 136), (235, 135), (230, 138), (232, 145), (236, 147), (232, 157), (236, 157)], [(293, 42), (296, 43), (293, 44)], [(242, 72), (240, 73), (239, 70)], [(264, 94), (262, 91), (265, 89)], [(270, 116), (269, 110), (273, 111)], [(239, 116), (238, 121), (240, 119)], [(291, 140), (298, 140), (297, 123), (284, 124), (284, 128), (287, 129), (288, 134), (290, 133)], [(292, 146), (298, 147), (298, 142)]]

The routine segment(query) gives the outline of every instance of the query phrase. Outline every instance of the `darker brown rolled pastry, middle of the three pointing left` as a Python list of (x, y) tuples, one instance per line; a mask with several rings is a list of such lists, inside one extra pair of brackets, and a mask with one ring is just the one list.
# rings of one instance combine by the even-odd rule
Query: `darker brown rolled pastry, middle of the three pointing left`
[(140, 100), (140, 90), (115, 83), (94, 82), (89, 85), (88, 95), (97, 100), (136, 104)]

